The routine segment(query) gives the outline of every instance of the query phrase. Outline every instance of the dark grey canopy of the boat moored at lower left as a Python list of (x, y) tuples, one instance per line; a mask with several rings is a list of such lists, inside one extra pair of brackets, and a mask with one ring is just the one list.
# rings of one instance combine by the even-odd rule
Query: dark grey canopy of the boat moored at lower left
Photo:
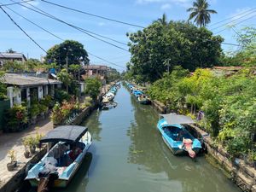
[(56, 127), (54, 130), (49, 131), (46, 136), (40, 139), (40, 143), (49, 142), (79, 142), (79, 139), (84, 136), (88, 131), (85, 126), (78, 125), (62, 125)]

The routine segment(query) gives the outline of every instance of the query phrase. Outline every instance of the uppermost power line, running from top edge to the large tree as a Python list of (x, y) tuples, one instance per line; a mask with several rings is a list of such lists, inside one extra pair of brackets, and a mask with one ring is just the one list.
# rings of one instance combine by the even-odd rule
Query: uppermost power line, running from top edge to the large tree
[(61, 5), (61, 4), (52, 3), (52, 2), (49, 2), (49, 1), (45, 1), (45, 0), (41, 0), (41, 1), (44, 2), (44, 3), (49, 3), (49, 4), (52, 4), (52, 5), (55, 5), (55, 6), (57, 6), (57, 7), (61, 7), (61, 8), (63, 8), (63, 9), (69, 9), (69, 10), (78, 12), (78, 13), (80, 13), (80, 14), (90, 15), (90, 16), (94, 16), (94, 17), (97, 17), (97, 18), (101, 18), (101, 19), (103, 19), (103, 20), (110, 20), (110, 21), (113, 21), (113, 22), (116, 22), (116, 23), (121, 23), (121, 24), (127, 25), (127, 26), (136, 26), (136, 27), (139, 27), (139, 28), (145, 28), (144, 26), (138, 26), (138, 25), (136, 25), (136, 24), (127, 23), (127, 22), (121, 21), (121, 20), (113, 20), (113, 19), (110, 19), (110, 18), (108, 18), (108, 17), (101, 16), (101, 15), (90, 14), (90, 13), (88, 13), (88, 12), (85, 12), (85, 11), (82, 11), (82, 10), (79, 10), (79, 9), (69, 8), (69, 7), (66, 7), (66, 6)]

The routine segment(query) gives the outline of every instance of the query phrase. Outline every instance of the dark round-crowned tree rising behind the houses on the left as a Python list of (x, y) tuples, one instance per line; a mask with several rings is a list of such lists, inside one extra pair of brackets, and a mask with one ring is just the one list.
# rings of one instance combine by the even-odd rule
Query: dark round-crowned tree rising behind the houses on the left
[(84, 45), (77, 41), (66, 40), (61, 44), (55, 44), (47, 51), (45, 57), (47, 63), (56, 62), (59, 66), (63, 67), (67, 64), (80, 64), (84, 65), (89, 63), (87, 51)]

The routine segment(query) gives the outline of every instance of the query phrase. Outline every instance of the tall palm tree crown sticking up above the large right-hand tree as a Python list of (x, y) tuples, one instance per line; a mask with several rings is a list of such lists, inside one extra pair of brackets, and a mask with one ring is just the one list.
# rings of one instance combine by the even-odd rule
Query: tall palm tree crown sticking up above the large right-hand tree
[(187, 9), (188, 12), (191, 12), (189, 20), (195, 17), (194, 22), (196, 22), (197, 26), (207, 26), (211, 22), (210, 14), (217, 14), (217, 11), (208, 9), (209, 6), (207, 0), (196, 0), (196, 2), (193, 2), (193, 8)]

